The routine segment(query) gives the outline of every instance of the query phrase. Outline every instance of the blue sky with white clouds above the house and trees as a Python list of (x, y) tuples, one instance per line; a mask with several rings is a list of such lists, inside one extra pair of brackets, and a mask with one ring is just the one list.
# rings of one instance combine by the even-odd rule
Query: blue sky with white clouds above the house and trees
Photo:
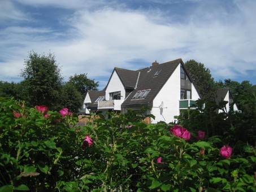
[(254, 0), (0, 0), (0, 81), (21, 81), (33, 50), (54, 53), (64, 80), (87, 73), (100, 89), (114, 67), (177, 58), (256, 84), (255, 10)]

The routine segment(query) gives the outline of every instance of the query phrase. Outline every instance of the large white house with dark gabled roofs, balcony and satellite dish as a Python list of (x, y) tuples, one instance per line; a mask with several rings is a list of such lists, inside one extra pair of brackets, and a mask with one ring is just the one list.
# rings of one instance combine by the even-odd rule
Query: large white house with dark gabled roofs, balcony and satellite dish
[(153, 114), (151, 123), (175, 120), (181, 110), (192, 106), (199, 93), (186, 72), (183, 60), (159, 64), (137, 71), (114, 68), (109, 82), (101, 91), (88, 91), (84, 99), (86, 113), (90, 111), (139, 110), (147, 107)]

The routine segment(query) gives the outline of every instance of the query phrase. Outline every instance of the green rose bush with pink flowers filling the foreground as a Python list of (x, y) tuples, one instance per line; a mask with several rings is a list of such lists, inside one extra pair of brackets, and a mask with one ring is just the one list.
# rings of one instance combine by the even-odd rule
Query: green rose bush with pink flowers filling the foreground
[(136, 112), (80, 127), (60, 111), (45, 118), (0, 99), (0, 191), (255, 191), (252, 146), (231, 151), (220, 137), (198, 141), (193, 130), (146, 125)]

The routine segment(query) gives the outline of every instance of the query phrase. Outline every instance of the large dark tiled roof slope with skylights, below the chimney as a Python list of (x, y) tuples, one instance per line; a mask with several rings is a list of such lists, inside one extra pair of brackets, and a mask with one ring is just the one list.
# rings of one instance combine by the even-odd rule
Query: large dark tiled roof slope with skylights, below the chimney
[[(184, 63), (181, 59), (172, 60), (171, 62), (166, 62), (159, 64), (154, 67), (140, 69), (137, 72), (140, 72), (140, 77), (138, 78), (137, 89), (133, 90), (131, 94), (128, 95), (127, 99), (123, 102), (122, 106), (129, 106), (132, 104), (141, 104), (141, 103), (149, 103), (150, 106), (158, 94), (160, 89), (162, 89), (163, 85), (166, 83), (168, 78), (172, 75), (173, 71), (179, 66), (179, 64)], [(154, 76), (155, 72), (159, 71), (158, 76)], [(137, 81), (137, 80), (136, 80)], [(145, 99), (132, 99), (133, 95), (140, 90), (150, 89), (149, 94)]]

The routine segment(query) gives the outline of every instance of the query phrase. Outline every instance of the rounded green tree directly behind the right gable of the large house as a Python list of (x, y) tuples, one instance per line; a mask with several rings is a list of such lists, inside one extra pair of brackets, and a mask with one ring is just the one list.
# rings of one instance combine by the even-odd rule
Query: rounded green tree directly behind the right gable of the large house
[(192, 80), (195, 82), (202, 99), (214, 101), (216, 95), (216, 86), (214, 78), (211, 76), (209, 68), (205, 64), (196, 62), (196, 60), (188, 60), (185, 67)]

